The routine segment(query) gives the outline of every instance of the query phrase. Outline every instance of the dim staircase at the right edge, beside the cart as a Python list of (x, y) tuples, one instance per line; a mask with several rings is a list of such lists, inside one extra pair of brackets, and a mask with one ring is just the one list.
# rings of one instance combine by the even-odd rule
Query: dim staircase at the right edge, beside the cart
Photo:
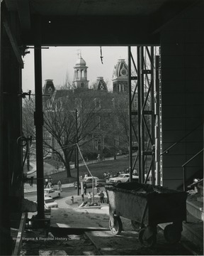
[(188, 191), (187, 221), (183, 222), (182, 235), (195, 245), (195, 255), (203, 255), (203, 180), (194, 182), (188, 187), (194, 189)]

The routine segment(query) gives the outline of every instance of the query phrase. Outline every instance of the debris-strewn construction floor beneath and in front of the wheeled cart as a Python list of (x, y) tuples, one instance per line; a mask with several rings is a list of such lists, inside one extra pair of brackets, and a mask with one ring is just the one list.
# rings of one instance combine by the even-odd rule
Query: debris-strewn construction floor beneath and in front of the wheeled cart
[(101, 209), (81, 209), (77, 200), (72, 204), (68, 198), (67, 208), (52, 210), (48, 230), (25, 230), (21, 255), (192, 255), (181, 243), (168, 244), (160, 228), (155, 247), (143, 247), (130, 220), (121, 220), (122, 233), (113, 235), (107, 204)]

